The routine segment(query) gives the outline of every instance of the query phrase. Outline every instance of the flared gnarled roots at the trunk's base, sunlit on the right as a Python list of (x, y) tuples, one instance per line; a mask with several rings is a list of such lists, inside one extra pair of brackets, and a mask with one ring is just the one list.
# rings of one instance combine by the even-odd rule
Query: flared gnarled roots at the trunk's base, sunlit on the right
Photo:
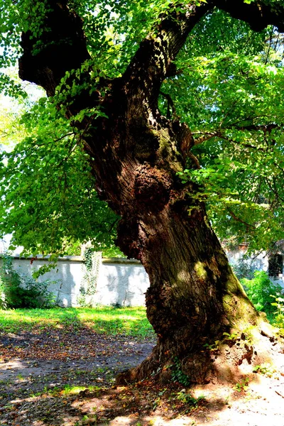
[(283, 337), (278, 337), (277, 329), (266, 321), (258, 327), (250, 327), (249, 332), (224, 336), (222, 341), (204, 347), (194, 354), (178, 359), (175, 356), (159, 356), (158, 343), (151, 356), (136, 368), (119, 373), (119, 385), (141, 381), (153, 377), (160, 383), (173, 381), (173, 371), (180, 369), (189, 384), (237, 383), (240, 378), (253, 372), (261, 364), (278, 367), (279, 354), (284, 356)]

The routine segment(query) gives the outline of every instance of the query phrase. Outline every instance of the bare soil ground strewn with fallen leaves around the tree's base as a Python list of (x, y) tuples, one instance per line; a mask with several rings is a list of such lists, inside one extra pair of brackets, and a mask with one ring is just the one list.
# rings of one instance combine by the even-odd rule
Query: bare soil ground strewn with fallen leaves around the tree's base
[(0, 334), (0, 425), (284, 426), (284, 355), (239, 383), (114, 386), (153, 339), (93, 330)]

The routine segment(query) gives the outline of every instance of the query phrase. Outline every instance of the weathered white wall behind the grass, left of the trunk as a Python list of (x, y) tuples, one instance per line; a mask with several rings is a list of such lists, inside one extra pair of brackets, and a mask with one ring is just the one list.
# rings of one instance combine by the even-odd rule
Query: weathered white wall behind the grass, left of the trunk
[[(21, 275), (31, 275), (46, 260), (15, 258), (13, 266)], [(1, 261), (0, 261), (1, 263)], [(148, 275), (138, 261), (113, 258), (102, 259), (94, 277), (95, 292), (85, 295), (85, 301), (93, 305), (142, 306), (149, 285)], [(38, 281), (50, 280), (48, 290), (55, 294), (60, 305), (78, 306), (82, 300), (80, 288), (86, 288), (86, 268), (82, 257), (66, 256), (60, 258), (52, 271), (38, 278)]]

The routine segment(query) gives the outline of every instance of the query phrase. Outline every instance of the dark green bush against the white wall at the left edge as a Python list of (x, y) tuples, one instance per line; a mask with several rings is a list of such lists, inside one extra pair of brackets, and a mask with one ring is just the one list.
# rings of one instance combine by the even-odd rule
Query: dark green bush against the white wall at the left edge
[(38, 283), (32, 277), (20, 275), (13, 269), (13, 258), (3, 256), (0, 268), (0, 308), (16, 309), (23, 307), (53, 307), (55, 296), (48, 291), (53, 283), (46, 280)]

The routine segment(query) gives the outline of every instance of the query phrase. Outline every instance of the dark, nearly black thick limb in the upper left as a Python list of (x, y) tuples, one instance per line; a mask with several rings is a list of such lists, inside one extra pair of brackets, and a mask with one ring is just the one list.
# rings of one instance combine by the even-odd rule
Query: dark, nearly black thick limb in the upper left
[(82, 21), (71, 13), (67, 1), (50, 0), (50, 10), (39, 23), (40, 40), (31, 31), (22, 33), (23, 55), (19, 60), (19, 77), (43, 87), (53, 96), (65, 72), (75, 70), (89, 59)]

